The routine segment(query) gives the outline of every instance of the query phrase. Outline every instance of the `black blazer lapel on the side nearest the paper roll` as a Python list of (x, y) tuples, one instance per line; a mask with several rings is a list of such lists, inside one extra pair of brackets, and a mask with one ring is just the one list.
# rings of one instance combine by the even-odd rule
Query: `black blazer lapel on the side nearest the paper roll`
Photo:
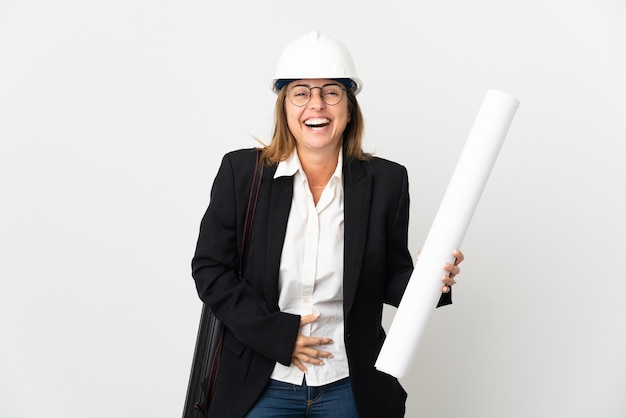
[(367, 239), (372, 178), (364, 164), (344, 160), (343, 304), (346, 316), (354, 302)]

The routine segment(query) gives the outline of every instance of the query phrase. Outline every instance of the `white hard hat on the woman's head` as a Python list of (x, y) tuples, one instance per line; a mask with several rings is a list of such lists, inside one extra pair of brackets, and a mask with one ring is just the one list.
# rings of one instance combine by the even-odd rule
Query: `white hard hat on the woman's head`
[(331, 78), (346, 84), (354, 94), (363, 88), (357, 77), (348, 49), (328, 35), (311, 31), (291, 41), (278, 59), (272, 91), (278, 91), (292, 80)]

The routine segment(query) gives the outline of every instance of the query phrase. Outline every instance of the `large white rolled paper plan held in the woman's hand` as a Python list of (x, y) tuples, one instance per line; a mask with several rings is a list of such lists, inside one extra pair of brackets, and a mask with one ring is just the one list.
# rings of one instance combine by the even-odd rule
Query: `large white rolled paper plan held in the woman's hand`
[(376, 360), (378, 370), (397, 378), (407, 371), (441, 296), (443, 265), (454, 263), (452, 251), (461, 246), (518, 106), (506, 93), (487, 91)]

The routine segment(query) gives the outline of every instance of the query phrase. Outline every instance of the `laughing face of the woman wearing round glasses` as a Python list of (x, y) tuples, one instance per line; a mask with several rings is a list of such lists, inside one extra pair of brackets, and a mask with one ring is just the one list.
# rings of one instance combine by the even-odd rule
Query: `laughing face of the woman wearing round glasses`
[[(350, 121), (347, 93), (339, 103), (332, 103), (336, 90), (327, 92), (326, 102), (322, 100), (322, 87), (338, 86), (345, 88), (341, 83), (329, 79), (296, 80), (284, 88), (294, 90), (296, 86), (306, 86), (302, 92), (311, 95), (311, 100), (303, 105), (296, 106), (290, 99), (285, 100), (285, 113), (289, 130), (296, 139), (296, 148), (299, 153), (316, 153), (336, 155), (341, 148), (343, 132)], [(329, 96), (330, 95), (330, 96)]]

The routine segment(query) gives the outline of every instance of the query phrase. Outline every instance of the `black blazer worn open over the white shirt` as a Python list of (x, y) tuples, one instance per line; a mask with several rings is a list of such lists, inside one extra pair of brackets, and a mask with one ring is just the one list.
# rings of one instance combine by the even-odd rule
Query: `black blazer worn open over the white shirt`
[[(291, 363), (300, 316), (278, 308), (278, 270), (293, 178), (265, 167), (242, 278), (237, 275), (254, 149), (224, 156), (202, 219), (193, 277), (227, 327), (209, 417), (241, 418), (276, 362)], [(360, 418), (403, 417), (406, 392), (374, 368), (385, 339), (383, 303), (397, 306), (413, 271), (407, 249), (406, 169), (381, 158), (344, 161), (344, 318), (350, 380)], [(440, 305), (450, 303), (442, 295)]]

